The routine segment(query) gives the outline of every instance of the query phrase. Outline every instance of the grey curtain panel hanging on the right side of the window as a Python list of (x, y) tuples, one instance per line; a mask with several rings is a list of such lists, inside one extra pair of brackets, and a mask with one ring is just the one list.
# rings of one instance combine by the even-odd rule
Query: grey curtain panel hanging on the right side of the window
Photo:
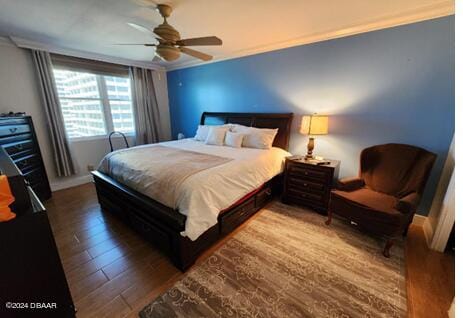
[(132, 104), (135, 119), (135, 142), (137, 145), (159, 141), (161, 116), (154, 89), (155, 73), (151, 70), (130, 67)]

